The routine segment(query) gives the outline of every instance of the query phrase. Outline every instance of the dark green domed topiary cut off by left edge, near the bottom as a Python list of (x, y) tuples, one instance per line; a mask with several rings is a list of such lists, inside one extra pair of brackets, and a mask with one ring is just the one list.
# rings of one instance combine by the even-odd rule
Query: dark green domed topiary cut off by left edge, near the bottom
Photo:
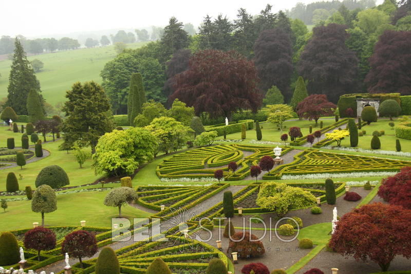
[(12, 265), (20, 261), (17, 239), (10, 232), (0, 234), (0, 265)]

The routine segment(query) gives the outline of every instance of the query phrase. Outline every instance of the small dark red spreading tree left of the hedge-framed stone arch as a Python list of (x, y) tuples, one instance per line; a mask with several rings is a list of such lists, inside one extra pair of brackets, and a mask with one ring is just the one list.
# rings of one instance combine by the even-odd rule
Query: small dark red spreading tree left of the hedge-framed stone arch
[(337, 106), (328, 102), (325, 94), (312, 94), (297, 105), (297, 115), (308, 120), (314, 120), (315, 126), (321, 116), (332, 116)]

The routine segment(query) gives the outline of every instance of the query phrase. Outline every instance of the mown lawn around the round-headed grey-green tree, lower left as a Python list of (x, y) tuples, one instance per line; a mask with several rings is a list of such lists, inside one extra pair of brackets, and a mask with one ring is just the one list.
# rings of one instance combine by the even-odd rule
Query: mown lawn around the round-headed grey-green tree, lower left
[[(45, 214), (46, 226), (79, 226), (85, 220), (88, 226), (110, 227), (111, 218), (118, 217), (117, 207), (103, 204), (108, 191), (81, 192), (57, 196), (57, 210)], [(31, 201), (8, 202), (6, 213), (0, 212), (0, 231), (29, 228), (41, 223), (41, 213), (31, 211)], [(148, 217), (152, 214), (132, 206), (122, 208), (123, 217)]]

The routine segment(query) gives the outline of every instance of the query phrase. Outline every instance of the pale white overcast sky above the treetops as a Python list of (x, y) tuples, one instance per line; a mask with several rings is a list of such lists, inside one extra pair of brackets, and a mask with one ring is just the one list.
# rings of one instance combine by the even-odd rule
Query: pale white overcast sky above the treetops
[[(313, 0), (0, 0), (0, 35), (26, 37), (87, 32), (115, 28), (165, 26), (171, 16), (196, 27), (206, 14), (227, 15), (231, 20), (238, 8), (257, 14), (267, 3), (273, 10), (291, 9), (297, 2)], [(383, 0), (377, 0), (381, 3)]]

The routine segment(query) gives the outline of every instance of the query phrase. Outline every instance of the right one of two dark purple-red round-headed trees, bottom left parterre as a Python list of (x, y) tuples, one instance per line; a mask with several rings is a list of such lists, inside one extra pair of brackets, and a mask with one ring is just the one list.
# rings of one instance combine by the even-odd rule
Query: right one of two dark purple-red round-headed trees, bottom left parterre
[(79, 258), (83, 268), (82, 258), (91, 257), (97, 252), (96, 236), (85, 230), (73, 231), (65, 236), (61, 245), (62, 253), (68, 253), (71, 257)]

